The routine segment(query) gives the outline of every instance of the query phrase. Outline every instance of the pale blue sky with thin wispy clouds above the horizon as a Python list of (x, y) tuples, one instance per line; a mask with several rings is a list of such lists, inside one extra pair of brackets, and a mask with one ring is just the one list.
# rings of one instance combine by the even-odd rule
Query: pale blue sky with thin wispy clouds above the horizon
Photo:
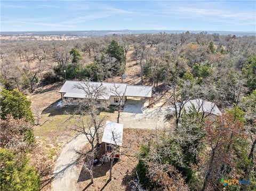
[(256, 1), (1, 1), (1, 31), (255, 31)]

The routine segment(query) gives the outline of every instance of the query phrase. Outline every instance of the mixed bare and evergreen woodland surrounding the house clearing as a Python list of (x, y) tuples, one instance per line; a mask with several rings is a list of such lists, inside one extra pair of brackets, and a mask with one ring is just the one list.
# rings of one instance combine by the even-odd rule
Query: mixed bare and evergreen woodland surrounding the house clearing
[[(45, 85), (68, 79), (121, 80), (129, 71), (128, 53), (140, 68), (135, 85), (154, 86), (154, 96), (165, 96), (166, 104), (175, 109), (170, 120), (174, 128), (159, 128), (138, 151), (137, 190), (221, 190), (221, 178), (250, 179), (250, 185), (227, 185), (227, 190), (256, 189), (255, 50), (253, 36), (189, 31), (66, 41), (2, 40), (1, 180), (6, 183), (1, 183), (1, 189), (13, 186), (7, 181), (7, 161), (12, 161), (13, 171), (25, 173), (30, 177), (27, 181), (35, 182), (30, 189), (39, 187), (35, 170), (26, 166), (25, 153), (33, 149), (35, 141), (31, 128), (35, 116), (24, 94), (40, 93)], [(222, 115), (209, 118), (195, 108), (181, 113), (184, 104), (196, 98), (215, 103)], [(99, 145), (103, 119), (98, 113), (107, 109), (93, 100), (78, 108), (79, 119), (90, 115), (90, 120), (82, 127), (74, 125), (76, 131), (94, 134), (91, 152)], [(121, 110), (118, 105), (118, 120)], [(86, 131), (89, 126), (93, 127), (90, 132)], [(12, 165), (19, 159), (24, 162), (17, 170)]]

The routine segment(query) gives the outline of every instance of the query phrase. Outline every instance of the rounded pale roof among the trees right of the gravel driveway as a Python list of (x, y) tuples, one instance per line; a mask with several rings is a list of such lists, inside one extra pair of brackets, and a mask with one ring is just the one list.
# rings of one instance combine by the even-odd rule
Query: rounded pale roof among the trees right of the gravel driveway
[(185, 103), (181, 112), (183, 112), (184, 110), (189, 111), (193, 105), (198, 112), (208, 113), (213, 115), (221, 115), (221, 112), (217, 107), (217, 105), (215, 105), (212, 102), (199, 99), (199, 98), (191, 99), (190, 101)]

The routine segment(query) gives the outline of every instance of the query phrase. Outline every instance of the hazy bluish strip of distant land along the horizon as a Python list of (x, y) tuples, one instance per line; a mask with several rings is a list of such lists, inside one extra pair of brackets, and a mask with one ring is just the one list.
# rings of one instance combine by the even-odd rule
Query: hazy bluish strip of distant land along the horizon
[[(139, 35), (139, 34), (180, 34), (186, 30), (84, 30), (84, 31), (18, 31), (18, 32), (0, 32), (0, 35), (58, 35), (58, 36), (110, 36), (110, 35)], [(198, 34), (202, 31), (191, 30), (191, 33)], [(255, 31), (236, 32), (236, 31), (206, 31), (207, 34), (236, 35), (236, 36), (256, 36)]]

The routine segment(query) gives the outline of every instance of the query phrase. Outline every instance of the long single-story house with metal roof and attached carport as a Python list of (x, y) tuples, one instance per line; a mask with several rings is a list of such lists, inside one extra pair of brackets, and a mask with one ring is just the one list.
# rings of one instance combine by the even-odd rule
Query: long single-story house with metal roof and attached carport
[(72, 104), (84, 98), (97, 98), (110, 105), (123, 105), (127, 97), (152, 97), (152, 87), (132, 86), (124, 83), (71, 81), (67, 80), (61, 87), (62, 103)]

